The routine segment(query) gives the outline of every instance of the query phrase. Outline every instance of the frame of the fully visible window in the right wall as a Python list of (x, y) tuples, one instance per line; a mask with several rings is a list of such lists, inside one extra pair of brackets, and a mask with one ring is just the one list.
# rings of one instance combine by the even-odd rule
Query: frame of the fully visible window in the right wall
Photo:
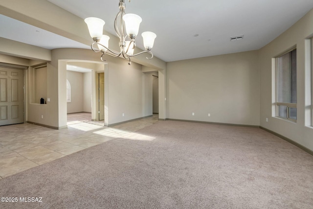
[[(278, 58), (285, 55), (285, 54), (288, 54), (289, 52), (296, 50), (296, 49), (297, 49), (296, 47), (292, 47), (290, 50), (286, 51), (283, 54), (280, 54), (279, 56), (277, 56), (275, 58), (275, 61), (276, 61), (276, 101), (275, 101), (276, 117), (282, 118), (282, 119), (285, 119), (288, 121), (292, 121), (292, 122), (297, 122), (297, 119), (290, 118), (290, 108), (297, 109), (297, 103), (278, 102), (278, 79), (279, 79), (279, 77), (278, 77)], [(296, 58), (296, 62), (297, 62), (297, 58)], [(287, 117), (282, 117), (282, 116), (278, 115), (279, 106), (286, 106), (287, 107)], [(313, 108), (313, 106), (312, 106), (312, 108)], [(297, 115), (298, 115), (298, 113), (297, 113)], [(297, 118), (298, 118), (298, 116), (297, 116)]]

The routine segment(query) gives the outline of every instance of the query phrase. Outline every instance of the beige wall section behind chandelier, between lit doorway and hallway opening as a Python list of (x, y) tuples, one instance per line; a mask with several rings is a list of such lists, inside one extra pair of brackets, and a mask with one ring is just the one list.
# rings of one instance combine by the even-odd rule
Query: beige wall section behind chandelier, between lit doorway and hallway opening
[[(115, 58), (116, 59), (116, 58)], [(142, 72), (141, 65), (127, 64), (127, 60), (117, 59), (118, 62), (108, 64), (108, 73), (105, 73), (105, 82), (108, 79), (109, 125), (146, 116), (143, 114), (142, 101)], [(106, 101), (105, 101), (106, 103)], [(124, 113), (124, 116), (123, 116)]]

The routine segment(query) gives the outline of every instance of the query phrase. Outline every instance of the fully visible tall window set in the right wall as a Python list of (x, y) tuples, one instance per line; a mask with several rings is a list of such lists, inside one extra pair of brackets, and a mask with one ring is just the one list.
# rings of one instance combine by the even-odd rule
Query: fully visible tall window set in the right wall
[(277, 57), (276, 116), (297, 120), (297, 51)]

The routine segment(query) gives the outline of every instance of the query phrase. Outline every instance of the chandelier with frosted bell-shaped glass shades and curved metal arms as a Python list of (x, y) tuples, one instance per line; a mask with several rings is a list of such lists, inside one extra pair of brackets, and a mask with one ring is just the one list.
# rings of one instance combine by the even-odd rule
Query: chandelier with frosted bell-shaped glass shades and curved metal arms
[[(130, 1), (131, 0), (129, 0), (129, 2)], [(125, 2), (124, 0), (119, 0), (119, 12), (114, 20), (114, 29), (119, 37), (120, 51), (116, 52), (109, 48), (110, 37), (102, 34), (105, 22), (99, 18), (86, 18), (85, 23), (88, 25), (89, 34), (93, 40), (91, 49), (95, 52), (102, 53), (100, 58), (102, 62), (105, 62), (103, 56), (106, 54), (112, 57), (119, 57), (122, 55), (124, 59), (129, 59), (129, 65), (131, 65), (131, 57), (142, 53), (149, 53), (151, 57), (147, 57), (147, 59), (152, 59), (153, 53), (151, 52), (151, 48), (153, 47), (156, 34), (150, 31), (146, 31), (141, 34), (143, 38), (143, 45), (146, 50), (134, 54), (134, 48), (136, 46), (135, 38), (138, 34), (139, 24), (141, 21), (142, 19), (138, 15), (126, 14)], [(128, 41), (126, 41), (127, 37), (129, 39)]]

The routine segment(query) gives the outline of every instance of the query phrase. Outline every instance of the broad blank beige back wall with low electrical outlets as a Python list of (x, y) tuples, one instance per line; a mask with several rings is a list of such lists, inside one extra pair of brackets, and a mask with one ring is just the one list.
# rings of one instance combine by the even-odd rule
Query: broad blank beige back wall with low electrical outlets
[(167, 117), (259, 125), (258, 57), (255, 50), (168, 63)]

